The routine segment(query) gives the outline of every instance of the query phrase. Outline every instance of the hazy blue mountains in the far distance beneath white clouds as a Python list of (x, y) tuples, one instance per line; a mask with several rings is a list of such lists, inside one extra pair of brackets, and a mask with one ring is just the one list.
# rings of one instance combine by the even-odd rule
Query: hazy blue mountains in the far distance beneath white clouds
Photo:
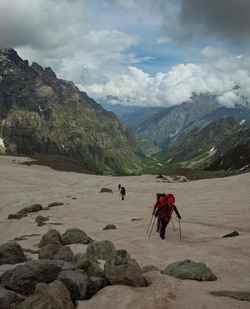
[(211, 122), (230, 116), (238, 123), (250, 125), (250, 105), (227, 108), (219, 104), (217, 97), (193, 94), (190, 100), (173, 107), (133, 107), (112, 105), (107, 97), (100, 104), (114, 112), (124, 123), (151, 142), (166, 148), (192, 129), (205, 127)]

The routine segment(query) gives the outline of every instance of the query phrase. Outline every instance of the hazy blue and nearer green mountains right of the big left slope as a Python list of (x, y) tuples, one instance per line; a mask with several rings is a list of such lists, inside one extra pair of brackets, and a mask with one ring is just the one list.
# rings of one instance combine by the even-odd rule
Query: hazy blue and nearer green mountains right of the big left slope
[[(249, 149), (247, 144), (250, 142), (250, 105), (247, 100), (244, 106), (228, 108), (220, 105), (214, 95), (194, 93), (178, 106), (129, 106), (126, 111), (119, 104), (108, 103), (112, 100), (115, 98), (107, 97), (100, 102), (140, 135), (163, 148), (152, 156), (155, 169), (159, 166), (209, 169), (214, 160), (216, 163), (211, 170), (250, 168), (249, 153), (242, 153)], [(237, 150), (240, 145), (245, 145), (242, 151)], [(234, 156), (231, 161), (229, 156)], [(223, 163), (225, 160), (227, 164)]]

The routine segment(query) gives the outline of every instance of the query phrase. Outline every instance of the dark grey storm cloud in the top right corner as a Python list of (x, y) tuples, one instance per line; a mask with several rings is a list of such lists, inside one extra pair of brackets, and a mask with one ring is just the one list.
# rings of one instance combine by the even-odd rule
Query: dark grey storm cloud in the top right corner
[(210, 39), (230, 47), (249, 46), (249, 0), (182, 0), (179, 4), (171, 19), (165, 5), (163, 30), (172, 40), (186, 43)]

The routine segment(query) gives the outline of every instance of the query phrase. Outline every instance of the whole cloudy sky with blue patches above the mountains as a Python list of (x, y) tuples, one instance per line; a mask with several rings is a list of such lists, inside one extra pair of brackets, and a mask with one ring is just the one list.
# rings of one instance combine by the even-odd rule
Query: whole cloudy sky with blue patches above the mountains
[(250, 0), (0, 0), (7, 47), (97, 101), (250, 100)]

